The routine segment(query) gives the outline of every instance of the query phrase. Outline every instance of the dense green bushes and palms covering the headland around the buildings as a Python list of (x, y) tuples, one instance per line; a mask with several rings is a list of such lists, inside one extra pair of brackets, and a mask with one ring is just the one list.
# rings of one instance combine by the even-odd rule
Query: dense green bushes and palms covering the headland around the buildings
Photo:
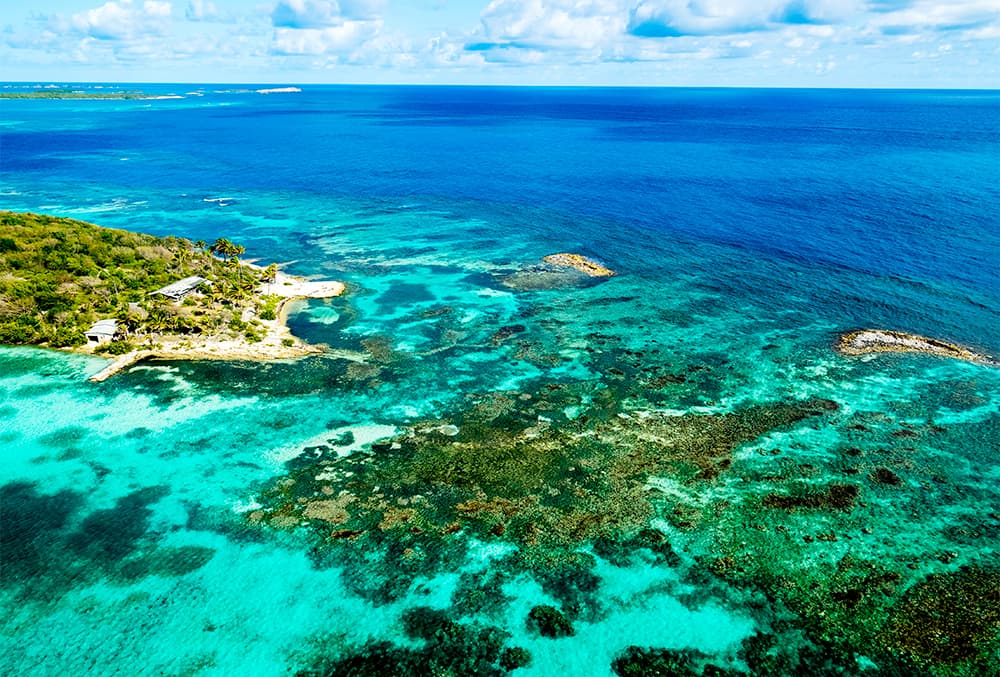
[[(243, 264), (244, 251), (225, 238), (208, 245), (0, 211), (0, 343), (82, 345), (84, 332), (105, 318), (133, 341), (167, 332), (257, 335), (256, 320), (245, 318), (273, 317), (274, 299), (255, 291), (274, 270)], [(208, 283), (180, 303), (150, 295), (192, 275)]]

